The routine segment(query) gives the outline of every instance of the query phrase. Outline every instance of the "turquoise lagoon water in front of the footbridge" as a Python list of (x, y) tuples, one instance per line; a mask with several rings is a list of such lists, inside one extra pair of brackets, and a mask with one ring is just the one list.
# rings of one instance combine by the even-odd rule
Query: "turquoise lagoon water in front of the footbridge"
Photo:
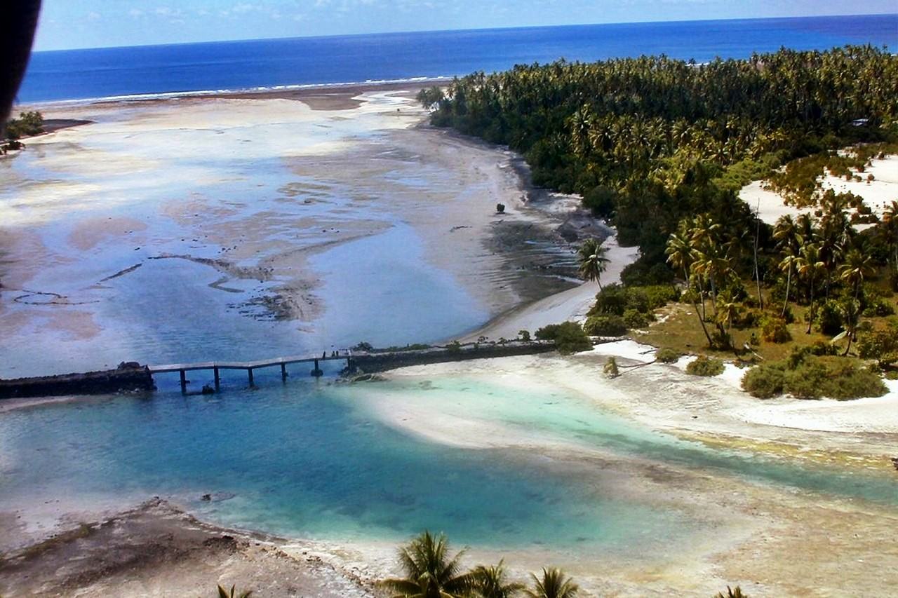
[[(699, 525), (622, 498), (615, 475), (589, 461), (458, 448), (390, 427), (376, 416), (384, 395), (428, 409), (433, 421), (477, 413), (549, 441), (716, 470), (734, 477), (733, 488), (744, 479), (898, 506), (898, 482), (887, 471), (712, 451), (563, 393), (448, 378), (345, 385), (306, 380), (304, 372), (282, 384), (277, 372), (259, 374), (254, 391), (233, 377), (215, 397), (183, 397), (172, 379), (148, 397), (0, 416), (0, 509), (159, 495), (219, 523), (295, 537), (401, 541), (428, 528), (473, 546), (575, 554), (586, 546), (642, 550), (685, 539)], [(200, 501), (205, 493), (216, 499)]]

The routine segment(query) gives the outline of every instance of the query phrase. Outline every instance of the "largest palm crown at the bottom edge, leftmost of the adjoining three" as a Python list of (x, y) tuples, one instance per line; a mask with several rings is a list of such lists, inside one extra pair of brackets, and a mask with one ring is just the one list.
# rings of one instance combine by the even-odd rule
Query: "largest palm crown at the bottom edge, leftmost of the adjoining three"
[(462, 598), (471, 590), (471, 573), (462, 573), (464, 550), (449, 558), (444, 534), (424, 532), (399, 551), (404, 578), (385, 579), (381, 585), (394, 598)]

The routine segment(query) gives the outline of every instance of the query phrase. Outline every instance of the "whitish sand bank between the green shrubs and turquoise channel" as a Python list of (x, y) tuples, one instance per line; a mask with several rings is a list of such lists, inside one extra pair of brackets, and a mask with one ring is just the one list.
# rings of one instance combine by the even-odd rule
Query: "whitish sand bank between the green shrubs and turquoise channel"
[[(619, 378), (608, 380), (601, 374), (607, 356), (618, 357), (624, 365)], [(898, 384), (894, 382), (889, 382), (890, 392), (877, 399), (757, 400), (738, 390), (738, 371), (727, 377), (700, 378), (683, 371), (688, 359), (677, 365), (651, 364), (653, 360), (653, 347), (625, 340), (599, 345), (591, 352), (570, 358), (504, 357), (401, 368), (390, 375), (476, 375), (500, 384), (565, 388), (651, 428), (687, 436), (742, 437), (799, 448), (823, 445), (832, 450), (862, 453), (883, 467), (891, 467), (885, 457), (894, 453), (894, 443), (898, 442)], [(637, 367), (629, 367), (632, 365)], [(385, 417), (389, 411), (384, 410)], [(396, 419), (400, 416), (389, 417), (396, 425), (408, 427), (415, 427), (418, 421), (411, 417), (399, 424)], [(450, 429), (452, 421), (450, 418), (447, 425)], [(439, 422), (430, 424), (436, 430), (441, 427)], [(826, 432), (832, 434), (819, 434)], [(431, 429), (428, 434), (437, 432)], [(447, 435), (448, 431), (439, 434)], [(487, 438), (490, 443), (502, 442), (501, 436)]]

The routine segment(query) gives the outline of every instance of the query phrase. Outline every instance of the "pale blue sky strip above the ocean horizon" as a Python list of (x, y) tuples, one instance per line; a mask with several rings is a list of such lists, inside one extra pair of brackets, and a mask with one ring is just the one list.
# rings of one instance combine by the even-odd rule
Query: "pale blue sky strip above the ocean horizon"
[(896, 7), (896, 0), (43, 0), (35, 49), (895, 13)]

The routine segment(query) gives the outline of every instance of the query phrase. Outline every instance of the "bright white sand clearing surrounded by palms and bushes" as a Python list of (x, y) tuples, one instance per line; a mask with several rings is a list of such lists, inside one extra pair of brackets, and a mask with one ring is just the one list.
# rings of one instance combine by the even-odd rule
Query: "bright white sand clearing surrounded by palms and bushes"
[[(875, 180), (867, 182), (867, 175), (872, 174)], [(876, 215), (882, 215), (885, 207), (898, 199), (898, 155), (886, 156), (883, 160), (873, 160), (873, 164), (858, 175), (864, 179), (860, 182), (844, 180), (822, 173), (820, 181), (823, 189), (833, 189), (837, 193), (850, 191), (864, 198), (864, 204)], [(780, 216), (813, 214), (814, 208), (797, 208), (785, 204), (783, 198), (769, 189), (763, 189), (763, 181), (755, 180), (745, 186), (739, 193), (752, 209), (758, 209), (761, 219), (767, 224), (775, 224)], [(860, 225), (863, 227), (864, 225)]]

